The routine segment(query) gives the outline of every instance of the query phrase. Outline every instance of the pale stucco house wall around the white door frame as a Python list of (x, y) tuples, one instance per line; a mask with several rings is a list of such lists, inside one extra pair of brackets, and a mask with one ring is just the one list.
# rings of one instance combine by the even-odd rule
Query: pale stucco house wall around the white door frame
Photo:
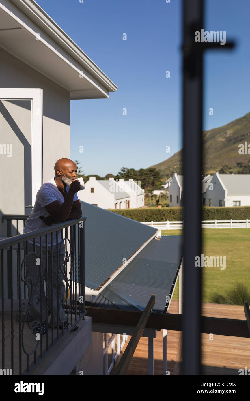
[[(43, 183), (47, 182), (54, 176), (56, 160), (70, 157), (69, 91), (2, 48), (0, 59), (0, 87), (43, 89)], [(31, 178), (28, 179), (31, 177), (31, 159), (25, 157), (31, 148), (30, 101), (2, 101), (1, 111), (0, 142), (11, 143), (13, 153), (9, 158), (1, 155), (0, 168), (5, 173), (0, 179), (5, 195), (0, 201), (0, 218), (3, 214), (31, 212), (31, 209), (24, 209), (31, 203)], [(20, 133), (19, 138), (16, 130)], [(15, 176), (18, 179), (15, 179), (13, 190), (6, 182), (12, 182)]]

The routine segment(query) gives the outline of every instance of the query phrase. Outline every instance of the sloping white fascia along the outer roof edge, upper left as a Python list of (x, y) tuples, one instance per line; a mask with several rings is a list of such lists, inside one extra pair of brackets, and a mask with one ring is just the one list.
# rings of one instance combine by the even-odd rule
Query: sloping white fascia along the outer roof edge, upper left
[[(2, 0), (3, 2), (3, 0)], [(80, 49), (59, 25), (33, 0), (10, 0), (31, 21), (41, 28), (67, 54), (71, 55), (86, 71), (95, 77), (109, 92), (118, 88), (111, 79)]]

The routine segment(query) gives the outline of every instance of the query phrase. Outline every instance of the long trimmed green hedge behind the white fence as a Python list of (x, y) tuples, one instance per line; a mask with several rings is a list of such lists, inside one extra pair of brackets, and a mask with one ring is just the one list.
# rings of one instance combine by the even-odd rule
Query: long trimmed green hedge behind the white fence
[[(136, 221), (181, 221), (181, 207), (146, 207), (139, 209), (108, 209)], [(202, 220), (250, 219), (250, 206), (203, 207)]]

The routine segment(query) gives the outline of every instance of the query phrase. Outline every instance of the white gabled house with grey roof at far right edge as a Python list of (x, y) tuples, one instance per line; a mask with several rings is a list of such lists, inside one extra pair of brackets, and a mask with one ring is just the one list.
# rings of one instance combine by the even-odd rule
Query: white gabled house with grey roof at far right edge
[(215, 172), (203, 198), (207, 206), (250, 206), (250, 174)]

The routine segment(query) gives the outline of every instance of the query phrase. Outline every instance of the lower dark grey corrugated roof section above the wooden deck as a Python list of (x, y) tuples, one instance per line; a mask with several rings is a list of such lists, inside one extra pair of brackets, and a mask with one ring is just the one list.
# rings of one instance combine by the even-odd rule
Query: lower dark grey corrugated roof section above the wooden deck
[[(181, 259), (181, 241), (181, 236), (152, 239), (99, 296), (120, 309), (144, 310), (155, 294), (153, 310), (163, 312)], [(98, 297), (91, 306), (97, 306)]]

